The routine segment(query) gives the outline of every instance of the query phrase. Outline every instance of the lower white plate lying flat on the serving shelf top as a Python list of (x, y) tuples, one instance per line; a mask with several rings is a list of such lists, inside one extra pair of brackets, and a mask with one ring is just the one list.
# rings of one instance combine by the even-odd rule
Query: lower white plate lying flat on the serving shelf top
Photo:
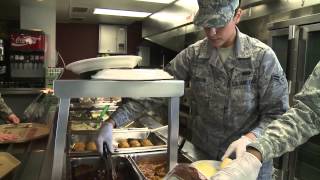
[(91, 76), (93, 79), (107, 80), (162, 80), (173, 79), (169, 73), (161, 69), (106, 69)]

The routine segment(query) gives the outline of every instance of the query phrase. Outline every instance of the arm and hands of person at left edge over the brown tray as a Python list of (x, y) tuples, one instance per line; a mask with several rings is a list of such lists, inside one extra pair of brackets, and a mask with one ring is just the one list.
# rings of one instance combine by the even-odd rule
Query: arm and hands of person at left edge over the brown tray
[[(4, 99), (0, 95), (0, 118), (3, 123), (10, 122), (14, 124), (20, 123), (20, 119), (12, 112), (12, 110), (4, 102)], [(1, 124), (1, 123), (0, 123)], [(0, 133), (0, 142), (4, 140), (12, 140), (16, 137), (11, 134)]]

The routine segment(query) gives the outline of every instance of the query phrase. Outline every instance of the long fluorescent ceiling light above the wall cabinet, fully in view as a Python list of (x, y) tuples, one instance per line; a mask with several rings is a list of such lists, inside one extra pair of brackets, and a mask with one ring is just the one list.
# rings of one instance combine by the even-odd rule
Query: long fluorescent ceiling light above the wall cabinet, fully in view
[(126, 16), (126, 17), (147, 17), (151, 13), (95, 8), (93, 11), (93, 14), (103, 14), (103, 15), (111, 15), (111, 16)]

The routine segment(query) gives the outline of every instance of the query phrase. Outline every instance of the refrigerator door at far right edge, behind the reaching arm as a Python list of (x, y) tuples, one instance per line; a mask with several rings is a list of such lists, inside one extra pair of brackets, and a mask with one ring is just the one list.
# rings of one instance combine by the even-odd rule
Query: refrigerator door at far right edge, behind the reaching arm
[[(320, 23), (301, 26), (299, 40), (299, 64), (297, 71), (297, 91), (320, 61)], [(297, 150), (295, 177), (317, 180), (320, 177), (320, 136), (312, 137)]]

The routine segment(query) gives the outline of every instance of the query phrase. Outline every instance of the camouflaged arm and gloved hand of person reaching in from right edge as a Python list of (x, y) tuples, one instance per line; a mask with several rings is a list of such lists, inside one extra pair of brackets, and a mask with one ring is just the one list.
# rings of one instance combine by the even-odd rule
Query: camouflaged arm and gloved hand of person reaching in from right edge
[(295, 105), (269, 124), (264, 133), (240, 158), (219, 171), (212, 180), (254, 180), (260, 161), (268, 161), (305, 143), (320, 133), (320, 62), (301, 92), (294, 97)]

